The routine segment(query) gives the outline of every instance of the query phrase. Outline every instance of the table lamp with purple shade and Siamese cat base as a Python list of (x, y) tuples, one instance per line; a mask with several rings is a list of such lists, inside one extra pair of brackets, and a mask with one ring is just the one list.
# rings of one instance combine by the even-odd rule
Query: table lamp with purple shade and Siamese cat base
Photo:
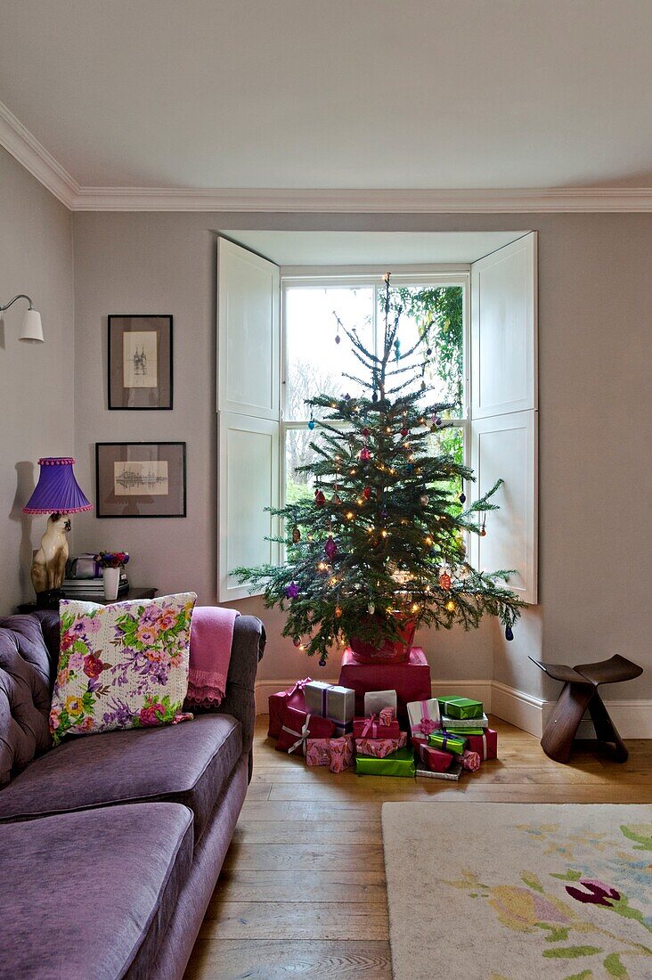
[(49, 514), (45, 534), (31, 565), (31, 582), (38, 609), (56, 609), (63, 598), (61, 586), (66, 577), (68, 538), (72, 524), (69, 514), (92, 510), (75, 480), (70, 457), (46, 457), (38, 483), (23, 508), (24, 514)]

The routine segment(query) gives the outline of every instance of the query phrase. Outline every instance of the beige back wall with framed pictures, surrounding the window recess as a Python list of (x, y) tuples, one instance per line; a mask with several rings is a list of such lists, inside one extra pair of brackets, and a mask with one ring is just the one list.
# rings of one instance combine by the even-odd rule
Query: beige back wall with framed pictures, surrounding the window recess
[[(216, 594), (215, 240), (234, 227), (333, 230), (539, 231), (539, 556), (541, 606), (513, 643), (491, 624), (422, 637), (433, 674), (490, 677), (552, 695), (527, 654), (581, 662), (620, 652), (644, 666), (610, 698), (652, 696), (647, 606), (652, 582), (649, 501), (652, 412), (649, 338), (652, 219), (567, 216), (75, 215), (75, 451), (82, 485), (96, 441), (188, 444), (188, 516), (77, 518), (79, 549), (126, 548), (132, 581)], [(175, 410), (106, 409), (106, 317), (175, 317)], [(270, 646), (262, 676), (303, 676), (305, 658), (279, 637), (259, 600)], [(311, 662), (310, 666), (314, 669)], [(326, 670), (327, 674), (334, 673)]]

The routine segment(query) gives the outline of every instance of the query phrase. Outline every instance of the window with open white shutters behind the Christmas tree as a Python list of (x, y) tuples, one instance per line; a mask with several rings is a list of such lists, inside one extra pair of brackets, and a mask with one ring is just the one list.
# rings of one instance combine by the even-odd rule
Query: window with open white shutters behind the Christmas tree
[[(355, 376), (357, 361), (344, 336), (335, 342), (333, 310), (375, 345), (382, 271), (283, 277), (274, 263), (218, 241), (222, 602), (249, 595), (230, 573), (234, 567), (280, 557), (278, 521), (265, 508), (312, 493), (294, 474), (310, 453), (303, 401), (338, 385), (355, 395), (357, 382), (342, 373)], [(454, 270), (394, 270), (391, 281), (405, 304), (402, 349), (432, 318), (427, 381), (442, 401), (459, 406), (448, 414), (450, 428), (432, 437), (475, 471), (469, 497), (504, 480), (487, 535), (471, 535), (471, 561), (480, 569), (516, 569), (511, 587), (535, 603), (536, 234), (522, 233)]]

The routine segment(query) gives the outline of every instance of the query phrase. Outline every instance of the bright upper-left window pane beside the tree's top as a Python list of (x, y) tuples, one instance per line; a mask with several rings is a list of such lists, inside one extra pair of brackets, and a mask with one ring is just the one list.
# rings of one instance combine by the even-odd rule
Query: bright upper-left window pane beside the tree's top
[[(351, 353), (351, 342), (339, 331), (333, 312), (349, 329), (355, 327), (363, 344), (373, 350), (374, 290), (372, 288), (288, 288), (285, 300), (287, 375), (285, 418), (308, 418), (306, 398), (319, 394), (351, 397), (362, 394), (342, 372), (362, 376), (365, 368)], [(339, 335), (340, 342), (335, 342)], [(362, 372), (362, 373), (361, 373)], [(316, 413), (318, 415), (318, 413)]]

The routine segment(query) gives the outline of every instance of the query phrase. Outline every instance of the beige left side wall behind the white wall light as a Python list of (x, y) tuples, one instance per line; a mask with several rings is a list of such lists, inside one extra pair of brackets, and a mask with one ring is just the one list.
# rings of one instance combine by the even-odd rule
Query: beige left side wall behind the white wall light
[(21, 509), (38, 478), (37, 460), (74, 452), (72, 231), (70, 212), (0, 149), (0, 303), (27, 293), (45, 334), (44, 344), (19, 342), (24, 300), (0, 315), (3, 613), (33, 599), (31, 555), (45, 523)]

